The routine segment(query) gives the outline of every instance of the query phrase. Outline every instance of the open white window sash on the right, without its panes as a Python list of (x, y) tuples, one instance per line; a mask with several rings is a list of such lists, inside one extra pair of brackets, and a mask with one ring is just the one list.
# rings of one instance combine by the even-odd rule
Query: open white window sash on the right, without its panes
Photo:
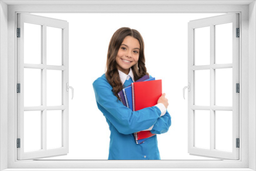
[[(232, 63), (218, 64), (215, 63), (215, 27), (222, 24), (232, 24)], [(198, 28), (209, 28), (210, 55), (209, 65), (195, 64), (195, 30)], [(211, 156), (218, 159), (239, 159), (239, 148), (237, 148), (236, 139), (239, 138), (239, 94), (236, 93), (236, 83), (239, 83), (239, 37), (236, 35), (236, 28), (239, 28), (239, 14), (230, 13), (214, 17), (201, 18), (192, 20), (188, 23), (188, 153), (199, 156)], [(232, 69), (232, 106), (218, 106), (215, 103), (216, 86), (215, 77), (216, 69)], [(209, 71), (209, 105), (202, 106), (195, 104), (195, 77), (196, 71)], [(196, 111), (204, 110), (209, 114), (209, 149), (195, 146), (195, 114)], [(232, 112), (232, 147), (231, 152), (225, 152), (216, 149), (216, 111)]]

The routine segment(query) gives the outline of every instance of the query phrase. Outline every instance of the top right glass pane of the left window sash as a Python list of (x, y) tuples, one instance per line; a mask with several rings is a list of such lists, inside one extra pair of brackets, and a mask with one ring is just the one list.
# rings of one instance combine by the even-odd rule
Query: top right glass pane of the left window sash
[(62, 65), (62, 29), (47, 27), (47, 65)]

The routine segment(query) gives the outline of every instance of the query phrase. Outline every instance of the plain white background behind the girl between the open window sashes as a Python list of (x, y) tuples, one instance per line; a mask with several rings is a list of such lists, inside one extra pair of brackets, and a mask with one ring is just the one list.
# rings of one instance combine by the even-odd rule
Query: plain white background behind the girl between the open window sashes
[[(69, 22), (69, 84), (75, 89), (69, 110), (69, 154), (54, 160), (106, 160), (110, 131), (98, 110), (93, 81), (105, 72), (106, 53), (120, 27), (138, 30), (145, 44), (146, 67), (162, 79), (172, 116), (167, 133), (158, 135), (162, 160), (207, 160), (187, 153), (187, 23), (220, 14), (36, 14)], [(187, 93), (186, 93), (187, 95)], [(185, 96), (186, 97), (186, 96)]]

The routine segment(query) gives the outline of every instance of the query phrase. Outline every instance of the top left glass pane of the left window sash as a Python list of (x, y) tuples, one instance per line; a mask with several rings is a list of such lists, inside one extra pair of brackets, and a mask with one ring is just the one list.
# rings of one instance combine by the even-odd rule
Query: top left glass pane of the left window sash
[(41, 25), (24, 23), (24, 63), (41, 63)]

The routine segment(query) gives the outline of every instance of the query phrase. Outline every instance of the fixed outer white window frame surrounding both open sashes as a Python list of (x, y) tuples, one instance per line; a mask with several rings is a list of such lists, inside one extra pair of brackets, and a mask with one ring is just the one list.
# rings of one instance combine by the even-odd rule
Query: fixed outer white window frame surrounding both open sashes
[[(0, 170), (256, 170), (256, 5), (255, 1), (35, 1), (0, 2)], [(45, 5), (44, 5), (45, 3)], [(47, 5), (48, 3), (48, 5)], [(74, 4), (73, 6), (67, 5)], [(77, 5), (76, 3), (84, 3)], [(94, 5), (90, 4), (94, 3)], [(169, 3), (169, 4), (168, 4)], [(202, 4), (204, 5), (202, 5)], [(219, 4), (218, 4), (219, 3)], [(8, 5), (7, 5), (8, 4)], [(12, 4), (12, 5), (11, 5)], [(22, 5), (25, 4), (25, 5)], [(125, 5), (129, 4), (129, 5)], [(135, 5), (133, 5), (135, 4)], [(144, 5), (143, 5), (144, 4)], [(180, 5), (179, 5), (180, 4)], [(182, 4), (182, 5), (181, 5)], [(191, 5), (193, 4), (193, 5)], [(206, 4), (206, 5), (205, 5)], [(212, 5), (214, 4), (214, 5)], [(18, 161), (16, 149), (16, 14), (33, 13), (240, 13), (240, 160)], [(8, 18), (8, 19), (7, 19)], [(8, 37), (6, 36), (8, 34)], [(8, 42), (8, 44), (6, 44)], [(8, 51), (7, 51), (8, 49)], [(185, 64), (186, 65), (186, 64)], [(7, 67), (8, 66), (8, 69)], [(7, 72), (8, 71), (8, 72)], [(8, 80), (8, 84), (7, 81)], [(181, 88), (182, 89), (182, 88)], [(8, 94), (7, 94), (8, 92)], [(8, 103), (6, 103), (8, 99)], [(7, 124), (8, 123), (8, 124)], [(8, 130), (8, 132), (6, 131)], [(71, 168), (72, 167), (72, 168)], [(70, 169), (67, 169), (70, 168)], [(76, 169), (77, 168), (77, 169)], [(91, 169), (90, 169), (91, 168)], [(105, 169), (104, 169), (105, 168)], [(111, 169), (112, 168), (112, 169)], [(119, 168), (119, 169), (118, 169)], [(184, 168), (184, 169), (182, 169)], [(200, 169), (201, 168), (201, 169)], [(204, 169), (202, 169), (204, 168)], [(213, 169), (214, 168), (214, 169)], [(154, 169), (154, 170), (155, 170)], [(152, 169), (151, 169), (152, 170)]]

